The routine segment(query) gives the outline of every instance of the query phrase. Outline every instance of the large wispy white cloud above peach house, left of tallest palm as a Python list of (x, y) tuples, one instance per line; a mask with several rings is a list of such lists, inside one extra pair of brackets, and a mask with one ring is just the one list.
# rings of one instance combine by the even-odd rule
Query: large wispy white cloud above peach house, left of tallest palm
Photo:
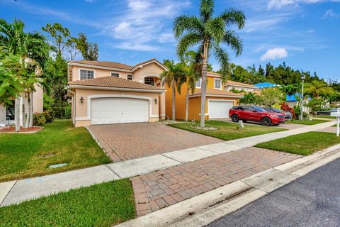
[[(126, 50), (158, 50), (157, 43), (173, 41), (174, 37), (166, 23), (190, 5), (189, 0), (127, 0), (128, 9), (113, 16), (102, 33), (118, 42), (118, 48)], [(116, 43), (116, 41), (115, 41)], [(154, 46), (152, 48), (152, 46)]]

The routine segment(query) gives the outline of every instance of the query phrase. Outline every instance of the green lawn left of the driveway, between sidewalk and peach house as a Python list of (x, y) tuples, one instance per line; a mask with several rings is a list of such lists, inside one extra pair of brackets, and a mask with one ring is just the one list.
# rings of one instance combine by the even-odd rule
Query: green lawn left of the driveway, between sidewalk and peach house
[[(64, 167), (48, 168), (58, 163)], [(58, 120), (32, 134), (0, 134), (0, 182), (79, 169), (111, 160), (86, 128)]]

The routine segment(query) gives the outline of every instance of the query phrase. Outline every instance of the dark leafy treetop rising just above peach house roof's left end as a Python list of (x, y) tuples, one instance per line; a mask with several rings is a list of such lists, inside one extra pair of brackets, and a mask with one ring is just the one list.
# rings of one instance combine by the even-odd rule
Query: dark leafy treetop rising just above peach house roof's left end
[(81, 52), (84, 60), (98, 60), (98, 44), (89, 43), (84, 33), (79, 33), (79, 38), (74, 39), (76, 48)]

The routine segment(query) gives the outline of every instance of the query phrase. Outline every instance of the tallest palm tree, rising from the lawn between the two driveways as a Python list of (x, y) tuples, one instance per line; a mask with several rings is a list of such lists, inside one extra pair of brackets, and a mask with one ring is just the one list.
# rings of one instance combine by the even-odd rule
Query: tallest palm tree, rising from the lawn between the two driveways
[(212, 53), (220, 62), (221, 71), (228, 70), (228, 54), (221, 48), (221, 44), (229, 45), (236, 55), (242, 52), (242, 40), (229, 26), (244, 28), (246, 17), (243, 11), (229, 9), (220, 16), (213, 17), (214, 1), (200, 1), (200, 16), (178, 16), (174, 21), (174, 35), (180, 38), (177, 45), (177, 55), (183, 60), (184, 54), (194, 45), (199, 45), (197, 62), (202, 65), (200, 126), (205, 126), (205, 96), (207, 89), (208, 58)]

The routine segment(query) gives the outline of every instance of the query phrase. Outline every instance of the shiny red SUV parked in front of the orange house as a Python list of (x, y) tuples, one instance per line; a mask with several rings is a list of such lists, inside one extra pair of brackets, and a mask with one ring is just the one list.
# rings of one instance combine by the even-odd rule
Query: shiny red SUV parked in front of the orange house
[(278, 125), (285, 122), (285, 116), (279, 113), (268, 112), (259, 106), (234, 106), (229, 110), (232, 121), (256, 121), (263, 126)]

